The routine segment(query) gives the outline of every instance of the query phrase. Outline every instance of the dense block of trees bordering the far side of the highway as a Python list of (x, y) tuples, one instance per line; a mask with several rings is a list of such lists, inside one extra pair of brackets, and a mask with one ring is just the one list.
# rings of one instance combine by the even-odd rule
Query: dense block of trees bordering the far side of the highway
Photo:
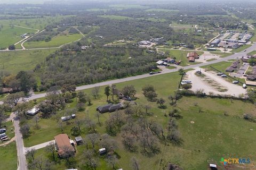
[[(130, 58), (131, 57), (131, 58)], [(85, 52), (58, 52), (37, 67), (41, 89), (63, 84), (91, 84), (151, 71), (161, 56), (144, 54), (143, 49), (89, 48)]]

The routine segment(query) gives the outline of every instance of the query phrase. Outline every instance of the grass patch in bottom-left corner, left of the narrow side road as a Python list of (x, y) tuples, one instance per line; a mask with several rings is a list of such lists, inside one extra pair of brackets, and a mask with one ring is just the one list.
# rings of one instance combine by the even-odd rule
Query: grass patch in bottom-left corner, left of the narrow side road
[(17, 169), (17, 150), (15, 142), (0, 147), (1, 164), (0, 169)]

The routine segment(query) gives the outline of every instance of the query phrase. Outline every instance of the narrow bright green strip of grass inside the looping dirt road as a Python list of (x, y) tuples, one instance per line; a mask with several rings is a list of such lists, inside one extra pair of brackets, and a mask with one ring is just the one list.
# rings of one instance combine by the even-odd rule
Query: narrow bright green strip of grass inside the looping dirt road
[(71, 43), (78, 39), (82, 38), (82, 35), (79, 33), (72, 35), (58, 35), (52, 38), (51, 41), (33, 41), (24, 43), (26, 48), (49, 48), (49, 47), (59, 47), (63, 44)]

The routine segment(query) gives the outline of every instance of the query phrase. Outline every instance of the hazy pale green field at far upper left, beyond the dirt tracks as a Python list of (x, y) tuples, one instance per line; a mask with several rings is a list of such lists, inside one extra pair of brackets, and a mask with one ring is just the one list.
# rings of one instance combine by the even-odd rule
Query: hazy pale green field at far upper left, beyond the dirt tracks
[(57, 16), (43, 16), (35, 19), (14, 19), (14, 20), (1, 20), (0, 25), (19, 25), (22, 27), (34, 28), (43, 30), (46, 25), (58, 23), (63, 18), (74, 15), (57, 15)]

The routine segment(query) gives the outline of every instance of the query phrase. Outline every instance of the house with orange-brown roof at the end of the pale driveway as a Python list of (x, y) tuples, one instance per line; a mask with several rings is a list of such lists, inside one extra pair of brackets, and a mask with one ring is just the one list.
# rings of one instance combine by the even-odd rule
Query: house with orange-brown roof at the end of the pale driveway
[(60, 157), (63, 157), (67, 151), (75, 152), (74, 141), (70, 140), (66, 133), (58, 134), (57, 136), (54, 137), (54, 139), (55, 147)]

